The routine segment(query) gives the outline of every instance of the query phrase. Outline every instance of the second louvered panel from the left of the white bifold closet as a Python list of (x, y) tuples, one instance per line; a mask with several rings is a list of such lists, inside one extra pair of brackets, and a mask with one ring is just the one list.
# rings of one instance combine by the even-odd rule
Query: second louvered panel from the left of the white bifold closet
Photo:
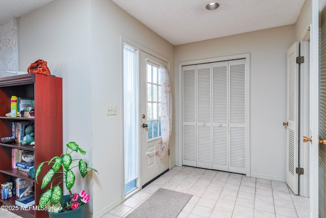
[(211, 64), (196, 66), (197, 72), (197, 167), (212, 169), (211, 161)]

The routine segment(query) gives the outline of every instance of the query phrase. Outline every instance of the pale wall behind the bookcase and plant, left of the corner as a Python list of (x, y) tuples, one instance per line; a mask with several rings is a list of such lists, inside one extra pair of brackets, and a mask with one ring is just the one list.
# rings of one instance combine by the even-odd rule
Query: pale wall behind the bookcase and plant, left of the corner
[[(18, 50), (20, 71), (44, 59), (51, 74), (63, 78), (63, 144), (65, 147), (66, 143), (75, 141), (87, 152), (83, 159), (92, 165), (89, 8), (89, 0), (55, 1), (21, 16), (18, 19)], [(88, 185), (91, 175), (83, 182), (79, 182), (80, 178), (80, 175), (76, 177), (72, 191), (85, 188), (93, 196), (93, 187)], [(87, 207), (89, 213), (93, 213), (92, 204), (93, 199)]]

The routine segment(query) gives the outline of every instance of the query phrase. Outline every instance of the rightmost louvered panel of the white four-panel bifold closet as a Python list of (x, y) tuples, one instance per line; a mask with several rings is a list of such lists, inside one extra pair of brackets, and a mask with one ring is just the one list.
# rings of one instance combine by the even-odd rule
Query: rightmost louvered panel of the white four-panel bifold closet
[(246, 173), (246, 60), (229, 62), (229, 171)]

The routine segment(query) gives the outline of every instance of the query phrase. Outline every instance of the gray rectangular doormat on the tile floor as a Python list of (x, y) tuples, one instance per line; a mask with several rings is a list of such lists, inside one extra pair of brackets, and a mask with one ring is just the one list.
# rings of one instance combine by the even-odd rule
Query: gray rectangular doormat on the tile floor
[(159, 188), (126, 218), (175, 218), (193, 195)]

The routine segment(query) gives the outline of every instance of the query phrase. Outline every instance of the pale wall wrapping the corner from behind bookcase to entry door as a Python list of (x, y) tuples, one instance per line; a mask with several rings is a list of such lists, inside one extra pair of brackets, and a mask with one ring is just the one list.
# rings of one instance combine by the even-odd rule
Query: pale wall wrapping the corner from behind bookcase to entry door
[[(99, 172), (89, 175), (87, 181), (76, 180), (74, 186), (75, 192), (86, 188), (91, 194), (87, 213), (93, 217), (104, 215), (122, 197), (121, 36), (169, 59), (174, 66), (173, 45), (112, 1), (57, 0), (19, 18), (20, 70), (44, 59), (52, 74), (63, 77), (64, 143), (76, 141)], [(173, 78), (173, 67), (170, 73)], [(106, 105), (116, 105), (117, 115), (105, 116)], [(175, 157), (171, 159), (174, 165)]]

